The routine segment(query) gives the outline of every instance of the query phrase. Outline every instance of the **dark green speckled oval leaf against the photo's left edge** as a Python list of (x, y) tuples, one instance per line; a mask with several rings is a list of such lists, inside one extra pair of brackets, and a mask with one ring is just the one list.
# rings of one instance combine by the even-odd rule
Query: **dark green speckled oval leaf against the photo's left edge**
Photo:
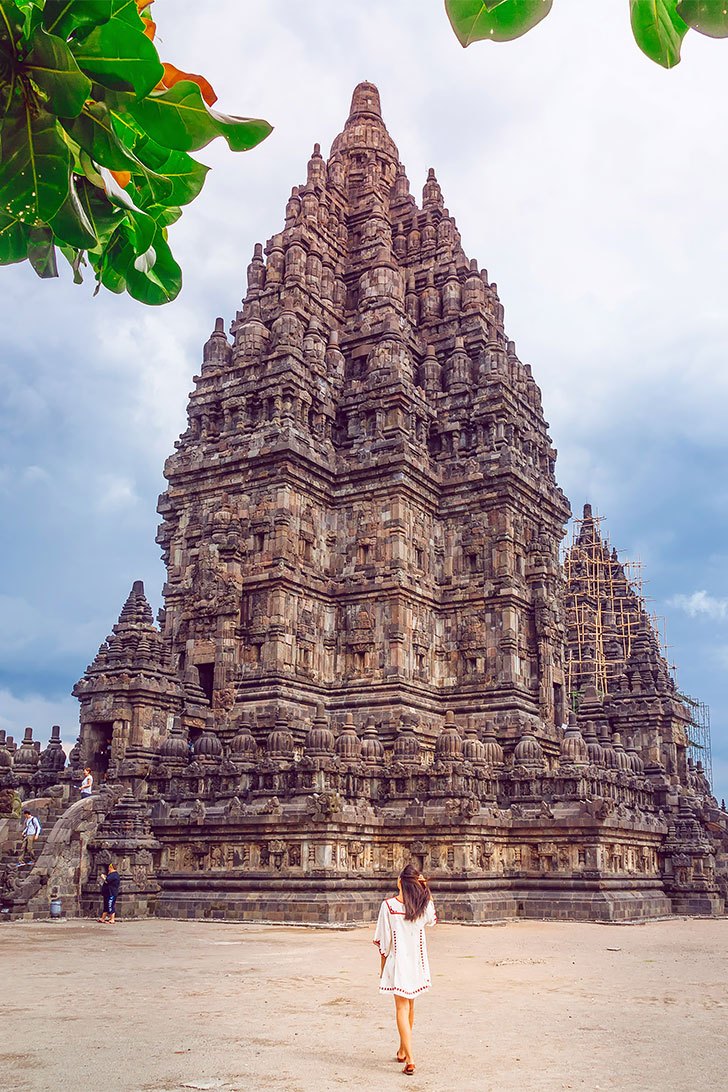
[(25, 224), (47, 223), (69, 191), (69, 146), (56, 121), (23, 99), (2, 122), (0, 194), (3, 212)]

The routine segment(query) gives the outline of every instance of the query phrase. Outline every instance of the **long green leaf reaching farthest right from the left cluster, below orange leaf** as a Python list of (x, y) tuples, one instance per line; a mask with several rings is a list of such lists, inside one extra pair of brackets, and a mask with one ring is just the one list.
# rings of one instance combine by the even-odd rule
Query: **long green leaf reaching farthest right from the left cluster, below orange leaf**
[(180, 152), (194, 152), (215, 136), (224, 136), (232, 152), (244, 152), (273, 131), (267, 121), (229, 117), (211, 109), (191, 80), (180, 80), (169, 91), (130, 103), (129, 112), (153, 140)]

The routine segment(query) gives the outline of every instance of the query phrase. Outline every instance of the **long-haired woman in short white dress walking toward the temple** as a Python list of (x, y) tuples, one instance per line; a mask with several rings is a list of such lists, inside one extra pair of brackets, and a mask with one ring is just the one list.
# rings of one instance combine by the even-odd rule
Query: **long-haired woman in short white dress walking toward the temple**
[(397, 894), (380, 906), (374, 943), (382, 960), (379, 992), (394, 995), (399, 1032), (397, 1061), (404, 1061), (403, 1072), (409, 1077), (415, 1072), (415, 998), (431, 986), (425, 926), (434, 925), (437, 919), (427, 880), (413, 865), (406, 865), (399, 873)]

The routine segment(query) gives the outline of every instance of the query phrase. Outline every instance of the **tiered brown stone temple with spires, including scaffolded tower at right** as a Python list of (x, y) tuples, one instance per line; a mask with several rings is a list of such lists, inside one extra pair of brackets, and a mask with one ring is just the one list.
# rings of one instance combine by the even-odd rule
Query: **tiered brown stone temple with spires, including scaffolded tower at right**
[(165, 466), (159, 626), (135, 583), (69, 767), (57, 729), (0, 743), (5, 810), (45, 820), (5, 915), (95, 909), (110, 858), (127, 914), (367, 921), (410, 858), (454, 921), (723, 913), (690, 713), (588, 509), (560, 563), (539, 388), (372, 84), (255, 247), (230, 337)]

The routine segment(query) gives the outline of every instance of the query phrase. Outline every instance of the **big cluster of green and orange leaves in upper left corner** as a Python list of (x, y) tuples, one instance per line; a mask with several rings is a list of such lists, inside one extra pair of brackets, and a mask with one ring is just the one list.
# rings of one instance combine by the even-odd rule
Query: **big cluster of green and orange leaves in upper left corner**
[(202, 76), (163, 64), (151, 0), (0, 0), (0, 264), (165, 304), (182, 274), (167, 241), (207, 167), (190, 152), (223, 136), (235, 152), (267, 121), (212, 109)]

